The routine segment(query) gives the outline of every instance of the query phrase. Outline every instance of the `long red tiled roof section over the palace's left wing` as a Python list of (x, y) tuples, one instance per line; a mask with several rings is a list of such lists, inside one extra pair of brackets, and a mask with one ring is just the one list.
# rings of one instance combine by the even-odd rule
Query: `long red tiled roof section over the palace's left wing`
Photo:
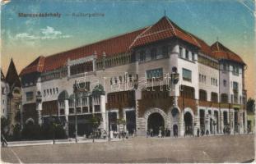
[(107, 56), (128, 52), (129, 46), (131, 43), (133, 43), (133, 40), (138, 34), (141, 34), (143, 30), (145, 30), (145, 28), (128, 34), (122, 34), (114, 38), (105, 39), (97, 43), (91, 43), (80, 48), (74, 48), (66, 52), (60, 52), (49, 57), (39, 57), (35, 59), (35, 61), (29, 66), (26, 66), (26, 68), (21, 71), (21, 75), (25, 75), (33, 71), (52, 71), (59, 67), (65, 66), (68, 58), (74, 60), (77, 58), (90, 56), (95, 52), (97, 57), (101, 57), (103, 52), (105, 52)]

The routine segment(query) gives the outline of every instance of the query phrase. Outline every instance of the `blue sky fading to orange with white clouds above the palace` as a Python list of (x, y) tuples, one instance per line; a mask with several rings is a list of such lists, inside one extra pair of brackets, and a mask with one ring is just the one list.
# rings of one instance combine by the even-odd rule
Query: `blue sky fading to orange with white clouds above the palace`
[[(248, 96), (255, 98), (254, 0), (86, 1), (19, 0), (1, 7), (1, 67), (11, 58), (17, 71), (36, 57), (49, 56), (152, 25), (166, 15), (208, 44), (218, 39), (247, 64)], [(19, 13), (60, 17), (20, 17)], [(96, 16), (72, 16), (72, 14)]]

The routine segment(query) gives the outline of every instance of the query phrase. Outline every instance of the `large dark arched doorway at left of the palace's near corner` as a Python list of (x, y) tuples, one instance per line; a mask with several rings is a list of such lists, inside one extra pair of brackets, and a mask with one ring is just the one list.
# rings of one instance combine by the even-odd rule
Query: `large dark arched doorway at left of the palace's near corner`
[(147, 119), (147, 130), (153, 130), (153, 135), (158, 135), (159, 130), (165, 130), (165, 121), (160, 113), (152, 113)]

